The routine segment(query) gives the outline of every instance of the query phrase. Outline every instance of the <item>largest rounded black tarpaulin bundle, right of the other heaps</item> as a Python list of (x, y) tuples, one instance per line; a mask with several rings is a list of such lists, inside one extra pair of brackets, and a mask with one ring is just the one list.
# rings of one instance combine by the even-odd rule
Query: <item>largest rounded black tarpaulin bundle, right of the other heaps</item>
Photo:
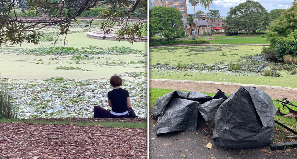
[(275, 113), (267, 93), (241, 86), (217, 109), (213, 141), (232, 149), (266, 146), (273, 141)]

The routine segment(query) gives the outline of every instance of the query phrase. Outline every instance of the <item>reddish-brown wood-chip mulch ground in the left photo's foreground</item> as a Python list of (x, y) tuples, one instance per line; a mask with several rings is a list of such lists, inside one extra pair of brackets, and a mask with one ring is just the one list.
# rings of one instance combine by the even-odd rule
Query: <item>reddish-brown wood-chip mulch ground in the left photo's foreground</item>
[(0, 127), (0, 157), (147, 158), (147, 129), (24, 123), (0, 123)]

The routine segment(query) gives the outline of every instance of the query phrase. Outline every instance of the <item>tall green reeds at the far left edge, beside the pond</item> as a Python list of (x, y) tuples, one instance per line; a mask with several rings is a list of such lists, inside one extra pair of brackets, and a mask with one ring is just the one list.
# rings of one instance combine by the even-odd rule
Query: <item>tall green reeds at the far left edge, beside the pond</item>
[(8, 92), (7, 85), (0, 79), (0, 119), (17, 119), (17, 108)]

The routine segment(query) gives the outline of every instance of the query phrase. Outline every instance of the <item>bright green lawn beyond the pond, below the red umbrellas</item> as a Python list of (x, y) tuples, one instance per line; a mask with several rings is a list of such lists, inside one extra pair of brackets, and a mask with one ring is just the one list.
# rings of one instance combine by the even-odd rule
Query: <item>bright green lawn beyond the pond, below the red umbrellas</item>
[(266, 38), (240, 38), (208, 40), (212, 44), (269, 44)]

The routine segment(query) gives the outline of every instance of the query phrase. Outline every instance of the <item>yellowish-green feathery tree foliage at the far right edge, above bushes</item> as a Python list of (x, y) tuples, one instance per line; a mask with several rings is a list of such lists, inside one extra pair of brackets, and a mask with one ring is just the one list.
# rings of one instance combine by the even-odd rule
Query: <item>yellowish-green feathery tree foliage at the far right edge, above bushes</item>
[(274, 47), (279, 39), (286, 38), (288, 34), (297, 29), (296, 8), (297, 2), (294, 2), (290, 9), (284, 10), (281, 16), (274, 20), (269, 26), (269, 30), (266, 31), (266, 34), (271, 47)]

